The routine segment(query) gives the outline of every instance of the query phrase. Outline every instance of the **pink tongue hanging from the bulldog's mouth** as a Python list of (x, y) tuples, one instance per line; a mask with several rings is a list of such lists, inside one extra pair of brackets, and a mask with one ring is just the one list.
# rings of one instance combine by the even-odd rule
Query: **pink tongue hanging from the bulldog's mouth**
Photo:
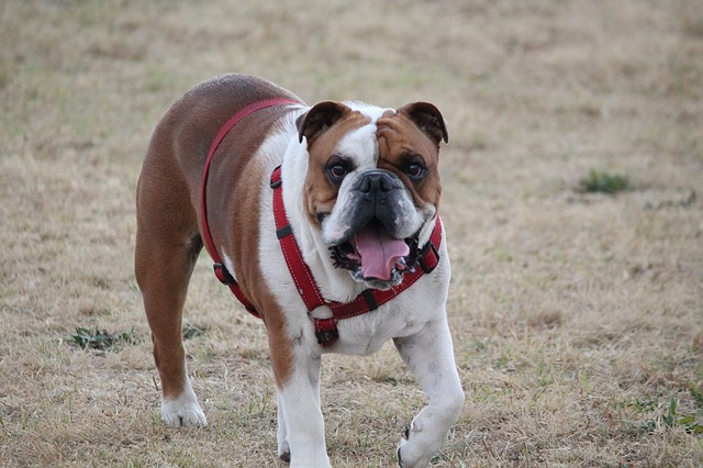
[(356, 234), (365, 278), (391, 279), (393, 265), (410, 254), (405, 241), (391, 237), (379, 224), (371, 223)]

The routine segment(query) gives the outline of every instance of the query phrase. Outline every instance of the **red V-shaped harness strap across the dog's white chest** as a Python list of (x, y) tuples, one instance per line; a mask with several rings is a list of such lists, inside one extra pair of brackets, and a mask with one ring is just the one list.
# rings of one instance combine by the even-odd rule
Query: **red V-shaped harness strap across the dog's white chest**
[(378, 289), (367, 289), (357, 296), (352, 302), (327, 301), (322, 297), (320, 288), (305, 264), (300, 247), (292, 235), (292, 229), (288, 223), (286, 208), (283, 207), (283, 190), (281, 181), (280, 166), (271, 174), (271, 188), (274, 189), (274, 218), (276, 220), (276, 232), (281, 244), (286, 264), (291, 272), (293, 282), (305, 303), (309, 312), (321, 305), (326, 305), (332, 310), (332, 317), (312, 317), (315, 325), (317, 343), (323, 347), (332, 345), (338, 337), (336, 322), (344, 319), (361, 315), (375, 311), (380, 305), (393, 299), (395, 296), (410, 288), (424, 274), (431, 274), (439, 264), (439, 245), (442, 244), (442, 222), (439, 216), (435, 222), (435, 227), (429, 237), (429, 242), (423, 247), (419, 258), (420, 268), (408, 271), (403, 275), (403, 281), (386, 291)]

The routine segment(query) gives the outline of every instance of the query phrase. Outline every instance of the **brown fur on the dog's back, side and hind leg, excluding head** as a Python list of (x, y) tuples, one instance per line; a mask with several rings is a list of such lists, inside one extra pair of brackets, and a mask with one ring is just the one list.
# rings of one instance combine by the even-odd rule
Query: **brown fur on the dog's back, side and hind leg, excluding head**
[[(137, 186), (135, 271), (164, 397), (178, 395), (185, 381), (181, 317), (202, 249), (200, 197), (208, 149), (234, 113), (270, 98), (298, 99), (265, 80), (235, 75), (215, 78), (176, 102), (152, 135)], [(257, 191), (244, 187), (268, 178), (250, 156), (266, 136), (260, 129), (270, 127), (280, 112), (286, 110), (264, 109), (237, 124), (213, 157), (208, 182), (212, 237), (233, 256), (244, 293), (263, 314), (278, 385), (291, 371), (284, 319), (269, 299), (256, 257), (258, 224), (247, 213), (258, 213)]]

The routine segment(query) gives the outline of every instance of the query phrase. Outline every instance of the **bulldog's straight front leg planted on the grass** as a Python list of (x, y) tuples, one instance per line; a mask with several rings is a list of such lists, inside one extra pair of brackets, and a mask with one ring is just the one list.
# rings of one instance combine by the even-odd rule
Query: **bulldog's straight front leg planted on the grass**
[[(291, 467), (330, 467), (320, 409), (320, 354), (293, 344), (289, 371), (274, 359), (278, 403), (278, 455)], [(290, 356), (289, 356), (290, 358)]]

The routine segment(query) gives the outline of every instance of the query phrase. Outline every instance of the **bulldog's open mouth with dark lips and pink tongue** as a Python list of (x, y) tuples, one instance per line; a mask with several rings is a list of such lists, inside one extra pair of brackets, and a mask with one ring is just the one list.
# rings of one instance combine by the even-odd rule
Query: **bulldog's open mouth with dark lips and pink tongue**
[(419, 256), (417, 234), (394, 238), (375, 218), (349, 241), (330, 247), (330, 250), (335, 267), (350, 270), (356, 280), (388, 289), (400, 283), (403, 272), (414, 270)]

